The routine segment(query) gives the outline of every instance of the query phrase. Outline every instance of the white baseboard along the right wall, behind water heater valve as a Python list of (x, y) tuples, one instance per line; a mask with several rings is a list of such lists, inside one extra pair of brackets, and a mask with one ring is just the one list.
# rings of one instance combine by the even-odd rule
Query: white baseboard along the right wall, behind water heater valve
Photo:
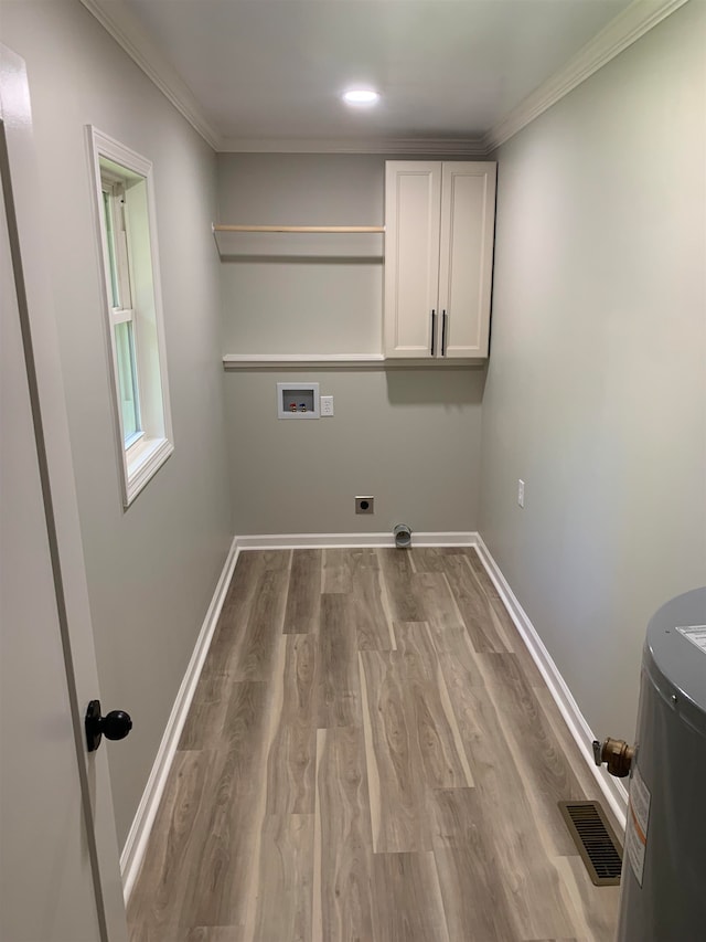
[(581, 755), (588, 763), (606, 801), (610, 805), (620, 826), (624, 830), (625, 815), (628, 813), (628, 790), (620, 780), (614, 779), (603, 768), (599, 769), (593, 762), (592, 742), (596, 737), (587, 723), (586, 718), (581, 713), (566, 681), (561, 677), (559, 668), (554, 663), (552, 655), (544, 646), (536, 628), (527, 617), (527, 613), (515, 597), (507, 580), (501, 572), (500, 567), (493, 559), (490, 550), (480, 536), (475, 541), (475, 549), (481, 558), (481, 562), (485, 567), (485, 571), (502, 599), (503, 605), (510, 613), (510, 617), (513, 620), (515, 627), (520, 632), (520, 636), (524, 641), (527, 650), (532, 655), (539, 673), (544, 677), (546, 685), (549, 688), (549, 692), (554, 697), (569, 732), (581, 751)]

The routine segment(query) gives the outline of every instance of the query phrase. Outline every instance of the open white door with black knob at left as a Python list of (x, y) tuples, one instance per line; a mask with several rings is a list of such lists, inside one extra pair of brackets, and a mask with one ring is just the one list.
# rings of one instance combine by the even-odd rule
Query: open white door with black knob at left
[(106, 748), (83, 731), (98, 685), (32, 165), (23, 63), (0, 46), (0, 939), (125, 942)]

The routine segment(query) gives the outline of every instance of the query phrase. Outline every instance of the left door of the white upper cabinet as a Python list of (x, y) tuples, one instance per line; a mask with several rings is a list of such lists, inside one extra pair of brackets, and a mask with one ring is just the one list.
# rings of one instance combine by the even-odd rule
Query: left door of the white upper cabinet
[[(439, 349), (441, 163), (385, 165), (385, 354), (431, 357)], [(437, 338), (432, 341), (432, 328)]]

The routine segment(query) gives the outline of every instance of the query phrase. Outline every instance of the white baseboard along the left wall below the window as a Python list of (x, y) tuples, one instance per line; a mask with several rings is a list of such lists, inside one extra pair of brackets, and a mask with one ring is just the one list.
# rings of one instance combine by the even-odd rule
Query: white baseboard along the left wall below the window
[(135, 880), (140, 870), (145, 848), (147, 847), (147, 840), (154, 823), (157, 809), (164, 791), (164, 785), (167, 784), (167, 776), (169, 775), (169, 770), (174, 759), (174, 753), (176, 752), (179, 738), (184, 727), (186, 715), (189, 713), (189, 708), (191, 707), (191, 701), (196, 689), (196, 684), (199, 682), (199, 677), (201, 676), (201, 670), (203, 668), (204, 660), (206, 659), (208, 646), (211, 645), (211, 639), (218, 622), (218, 615), (223, 607), (223, 602), (231, 583), (231, 576), (233, 575), (238, 553), (239, 547), (236, 538), (231, 544), (228, 555), (226, 557), (223, 570), (221, 571), (215, 592), (213, 593), (213, 599), (208, 605), (208, 611), (206, 612), (193, 654), (191, 655), (189, 666), (186, 667), (186, 673), (181, 681), (181, 687), (176, 694), (174, 706), (172, 707), (169, 720), (167, 721), (164, 734), (162, 735), (162, 741), (160, 742), (159, 750), (157, 751), (157, 758), (154, 759), (150, 777), (148, 779), (145, 792), (142, 793), (142, 798), (140, 800), (135, 819), (132, 821), (132, 826), (130, 827), (130, 833), (127, 836), (122, 854), (120, 855), (122, 893), (126, 904), (130, 898)]

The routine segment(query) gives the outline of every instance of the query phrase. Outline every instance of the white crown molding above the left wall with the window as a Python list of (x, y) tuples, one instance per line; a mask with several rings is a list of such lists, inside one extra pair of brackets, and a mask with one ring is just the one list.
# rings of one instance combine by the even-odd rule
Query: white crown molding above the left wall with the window
[(221, 147), (221, 135), (206, 120), (191, 88), (149, 39), (128, 7), (121, 0), (81, 0), (81, 2), (181, 112), (206, 144), (217, 151)]

